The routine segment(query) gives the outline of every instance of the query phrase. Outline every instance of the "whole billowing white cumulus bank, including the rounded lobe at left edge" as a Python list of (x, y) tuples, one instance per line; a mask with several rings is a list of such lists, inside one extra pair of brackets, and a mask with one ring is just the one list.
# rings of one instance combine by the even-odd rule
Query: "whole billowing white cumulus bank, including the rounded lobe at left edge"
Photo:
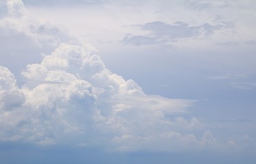
[(170, 119), (192, 100), (144, 94), (133, 80), (107, 70), (91, 45), (62, 43), (40, 64), (27, 65), (22, 75), (25, 83), (18, 88), (14, 74), (1, 67), (2, 141), (111, 143), (107, 147), (134, 150), (144, 148), (141, 141), (157, 144), (162, 133), (182, 138), (172, 132), (177, 126), (200, 126), (196, 119)]

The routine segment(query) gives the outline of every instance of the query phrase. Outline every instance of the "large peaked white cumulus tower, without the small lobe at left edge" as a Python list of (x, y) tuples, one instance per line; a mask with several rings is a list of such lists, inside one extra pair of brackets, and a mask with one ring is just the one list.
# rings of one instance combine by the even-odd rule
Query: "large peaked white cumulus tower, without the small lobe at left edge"
[[(123, 138), (123, 135), (140, 137), (144, 131), (148, 137), (169, 131), (168, 128), (171, 129), (175, 124), (188, 128), (199, 126), (196, 119), (189, 123), (183, 118), (178, 118), (181, 121), (177, 122), (168, 118), (173, 113), (185, 112), (193, 100), (148, 96), (133, 80), (125, 81), (123, 77), (107, 70), (95, 52), (92, 46), (60, 44), (51, 55), (42, 59), (41, 64), (27, 66), (23, 72), (26, 82), (21, 90), (25, 94), (26, 105), (40, 113), (40, 116), (36, 116), (38, 126), (51, 122), (65, 136), (71, 133), (77, 133), (77, 136), (84, 134), (78, 139), (82, 143), (88, 142), (85, 138), (88, 133), (92, 133), (88, 131), (91, 126), (96, 133), (90, 134), (93, 136), (90, 140), (95, 141), (100, 138)], [(56, 60), (58, 62), (53, 62)], [(169, 116), (166, 118), (165, 115)], [(53, 127), (38, 129), (52, 133), (54, 130)], [(47, 139), (62, 143), (62, 138), (57, 136), (61, 135), (57, 133), (52, 138), (44, 135)], [(38, 138), (33, 137), (34, 140)], [(40, 139), (38, 141), (41, 143)], [(116, 148), (119, 146), (116, 145)]]

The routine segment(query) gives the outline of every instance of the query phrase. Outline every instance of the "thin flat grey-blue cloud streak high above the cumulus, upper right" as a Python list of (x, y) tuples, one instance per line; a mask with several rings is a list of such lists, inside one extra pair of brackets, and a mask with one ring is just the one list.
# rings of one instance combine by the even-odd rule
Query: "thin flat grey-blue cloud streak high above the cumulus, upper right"
[(220, 22), (218, 25), (189, 25), (181, 21), (172, 24), (155, 21), (137, 26), (142, 31), (148, 31), (146, 36), (128, 35), (123, 38), (125, 44), (148, 45), (148, 44), (167, 44), (168, 42), (178, 42), (188, 38), (197, 38), (199, 36), (210, 36), (214, 31), (233, 27), (233, 23)]

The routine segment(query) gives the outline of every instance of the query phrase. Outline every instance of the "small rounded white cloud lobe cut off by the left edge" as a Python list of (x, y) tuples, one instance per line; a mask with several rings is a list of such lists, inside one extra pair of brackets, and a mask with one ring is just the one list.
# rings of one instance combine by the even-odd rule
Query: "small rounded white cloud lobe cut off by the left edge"
[[(19, 112), (25, 103), (24, 94), (16, 86), (14, 74), (0, 66), (0, 138), (1, 141), (21, 139), (18, 128), (26, 117)], [(21, 114), (21, 115), (20, 115)]]

